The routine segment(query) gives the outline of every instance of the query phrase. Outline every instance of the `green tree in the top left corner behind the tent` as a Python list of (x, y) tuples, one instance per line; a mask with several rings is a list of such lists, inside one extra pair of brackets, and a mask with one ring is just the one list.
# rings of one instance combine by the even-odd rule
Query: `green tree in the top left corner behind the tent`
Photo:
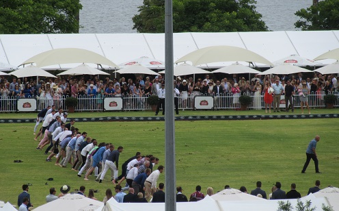
[(4, 0), (0, 34), (79, 33), (79, 0)]

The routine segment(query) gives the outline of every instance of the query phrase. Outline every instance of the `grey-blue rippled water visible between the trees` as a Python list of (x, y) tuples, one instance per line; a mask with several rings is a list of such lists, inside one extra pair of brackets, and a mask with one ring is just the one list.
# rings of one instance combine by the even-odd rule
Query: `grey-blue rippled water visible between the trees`
[[(137, 33), (132, 17), (143, 0), (81, 0), (80, 33)], [(312, 0), (257, 0), (257, 11), (271, 31), (295, 31), (295, 12)]]

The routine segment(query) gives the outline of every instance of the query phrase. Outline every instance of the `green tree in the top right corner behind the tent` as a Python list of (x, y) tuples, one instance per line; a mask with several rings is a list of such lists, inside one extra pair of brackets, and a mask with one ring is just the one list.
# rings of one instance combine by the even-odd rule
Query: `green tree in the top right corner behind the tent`
[(301, 30), (338, 30), (339, 0), (325, 0), (311, 5), (310, 8), (295, 12), (301, 20), (295, 23)]

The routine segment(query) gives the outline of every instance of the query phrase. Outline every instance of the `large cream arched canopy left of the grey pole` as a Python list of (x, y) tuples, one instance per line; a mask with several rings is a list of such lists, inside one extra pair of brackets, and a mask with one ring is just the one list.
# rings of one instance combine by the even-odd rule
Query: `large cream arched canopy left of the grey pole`
[(85, 49), (75, 48), (62, 48), (45, 51), (34, 55), (29, 58), (23, 64), (36, 63), (36, 66), (50, 66), (53, 64), (72, 64), (72, 63), (93, 63), (93, 64), (105, 64), (108, 66), (119, 68), (118, 65), (114, 64), (111, 60), (105, 58), (105, 56), (93, 51)]

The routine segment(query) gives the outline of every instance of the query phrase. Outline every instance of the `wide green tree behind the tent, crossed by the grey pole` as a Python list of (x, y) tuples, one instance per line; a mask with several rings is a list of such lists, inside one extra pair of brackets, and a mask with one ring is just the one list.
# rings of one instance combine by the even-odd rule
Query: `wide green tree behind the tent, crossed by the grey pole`
[[(264, 32), (254, 0), (173, 0), (173, 32)], [(165, 0), (144, 0), (133, 17), (140, 33), (165, 32)]]

